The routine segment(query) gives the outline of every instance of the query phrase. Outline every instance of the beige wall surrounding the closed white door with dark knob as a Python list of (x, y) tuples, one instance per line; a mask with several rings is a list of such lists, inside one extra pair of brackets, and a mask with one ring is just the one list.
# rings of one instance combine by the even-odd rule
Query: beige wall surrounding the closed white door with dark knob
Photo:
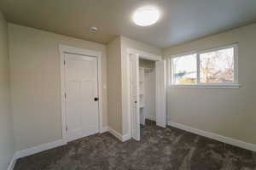
[[(15, 149), (24, 150), (61, 139), (59, 44), (102, 52), (102, 87), (107, 84), (106, 47), (47, 31), (9, 24)], [(103, 126), (108, 125), (107, 89)]]

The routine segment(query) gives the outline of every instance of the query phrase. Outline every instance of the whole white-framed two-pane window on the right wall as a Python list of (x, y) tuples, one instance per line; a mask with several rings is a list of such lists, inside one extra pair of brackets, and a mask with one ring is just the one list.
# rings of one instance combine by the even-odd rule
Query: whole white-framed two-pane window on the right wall
[(171, 61), (172, 85), (193, 87), (235, 87), (237, 80), (237, 46), (174, 56)]

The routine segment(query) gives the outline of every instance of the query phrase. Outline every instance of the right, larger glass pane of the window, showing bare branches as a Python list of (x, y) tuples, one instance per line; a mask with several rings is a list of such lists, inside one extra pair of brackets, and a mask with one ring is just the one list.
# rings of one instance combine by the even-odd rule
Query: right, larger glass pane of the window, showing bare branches
[(234, 48), (200, 54), (200, 82), (234, 82)]

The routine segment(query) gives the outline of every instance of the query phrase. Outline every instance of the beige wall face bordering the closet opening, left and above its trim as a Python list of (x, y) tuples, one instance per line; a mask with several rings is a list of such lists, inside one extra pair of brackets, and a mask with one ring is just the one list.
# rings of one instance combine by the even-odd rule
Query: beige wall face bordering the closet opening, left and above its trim
[(147, 43), (137, 42), (127, 37), (121, 37), (121, 74), (122, 74), (122, 124), (123, 124), (123, 134), (129, 132), (129, 94), (128, 93), (128, 81), (127, 81), (127, 48), (134, 48), (149, 54), (161, 55), (161, 49), (151, 46)]

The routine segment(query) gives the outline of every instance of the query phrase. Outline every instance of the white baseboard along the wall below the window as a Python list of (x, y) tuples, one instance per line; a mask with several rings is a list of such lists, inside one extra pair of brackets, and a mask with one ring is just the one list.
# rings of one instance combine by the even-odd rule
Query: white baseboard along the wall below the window
[(177, 127), (177, 128), (183, 129), (183, 130), (188, 131), (190, 133), (199, 134), (199, 135), (207, 137), (209, 139), (215, 139), (215, 140), (218, 140), (220, 142), (224, 142), (226, 144), (235, 145), (237, 147), (240, 147), (240, 148), (243, 148), (243, 149), (246, 149), (246, 150), (256, 151), (256, 144), (249, 144), (249, 143), (243, 142), (243, 141), (238, 140), (238, 139), (231, 139), (229, 137), (225, 137), (225, 136), (219, 135), (217, 133), (209, 133), (207, 131), (203, 131), (201, 129), (194, 128), (194, 127), (189, 127), (189, 126), (179, 124), (179, 123), (176, 123), (176, 122), (168, 122), (168, 125), (171, 126), (171, 127)]

